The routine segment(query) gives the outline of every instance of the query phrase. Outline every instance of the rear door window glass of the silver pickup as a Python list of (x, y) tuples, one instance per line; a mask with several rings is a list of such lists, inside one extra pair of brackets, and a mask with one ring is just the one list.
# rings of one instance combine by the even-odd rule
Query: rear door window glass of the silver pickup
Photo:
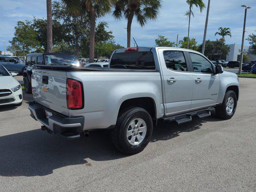
[(175, 71), (188, 71), (182, 51), (164, 51), (164, 61), (168, 69)]

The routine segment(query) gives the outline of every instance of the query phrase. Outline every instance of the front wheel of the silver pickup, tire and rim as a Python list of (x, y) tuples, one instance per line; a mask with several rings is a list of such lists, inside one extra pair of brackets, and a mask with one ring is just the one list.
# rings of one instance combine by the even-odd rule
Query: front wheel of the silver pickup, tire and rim
[(227, 90), (222, 104), (215, 108), (216, 115), (224, 120), (231, 119), (236, 112), (236, 105), (236, 93), (231, 90)]

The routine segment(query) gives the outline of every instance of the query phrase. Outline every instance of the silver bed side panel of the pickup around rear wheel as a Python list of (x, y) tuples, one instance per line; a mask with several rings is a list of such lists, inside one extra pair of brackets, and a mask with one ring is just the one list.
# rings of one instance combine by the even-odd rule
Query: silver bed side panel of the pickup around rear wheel
[(69, 110), (70, 117), (83, 116), (84, 130), (115, 125), (121, 104), (131, 98), (150, 97), (157, 117), (163, 115), (159, 72), (67, 72), (84, 87), (84, 109)]

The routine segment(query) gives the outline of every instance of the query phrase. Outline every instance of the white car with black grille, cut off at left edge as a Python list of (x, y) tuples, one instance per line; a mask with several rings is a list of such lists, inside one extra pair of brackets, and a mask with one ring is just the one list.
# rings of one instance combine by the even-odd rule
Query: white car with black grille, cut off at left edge
[(0, 65), (0, 106), (22, 104), (23, 95), (19, 82), (13, 78), (16, 73), (9, 73), (6, 68)]

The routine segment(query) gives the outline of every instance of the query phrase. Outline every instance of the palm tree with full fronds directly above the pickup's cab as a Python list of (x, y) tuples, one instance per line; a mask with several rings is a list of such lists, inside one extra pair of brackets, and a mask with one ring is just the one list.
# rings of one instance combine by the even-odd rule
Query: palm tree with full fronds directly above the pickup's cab
[(113, 16), (120, 20), (127, 19), (127, 47), (131, 46), (131, 23), (133, 17), (143, 27), (148, 20), (156, 20), (161, 8), (161, 0), (117, 0)]

